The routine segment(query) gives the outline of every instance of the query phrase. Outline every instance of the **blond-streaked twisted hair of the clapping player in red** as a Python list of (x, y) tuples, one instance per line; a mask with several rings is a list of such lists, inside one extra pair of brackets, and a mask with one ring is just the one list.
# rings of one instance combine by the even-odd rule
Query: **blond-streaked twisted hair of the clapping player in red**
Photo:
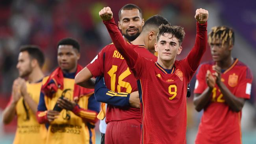
[(214, 26), (211, 28), (211, 32), (208, 34), (208, 43), (220, 39), (222, 46), (225, 42), (228, 42), (228, 46), (234, 45), (235, 33), (232, 28), (227, 26)]

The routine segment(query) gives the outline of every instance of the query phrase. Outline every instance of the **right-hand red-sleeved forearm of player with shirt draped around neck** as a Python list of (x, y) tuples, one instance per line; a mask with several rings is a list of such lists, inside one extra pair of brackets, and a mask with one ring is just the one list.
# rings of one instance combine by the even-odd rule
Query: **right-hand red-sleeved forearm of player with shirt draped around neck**
[(86, 122), (93, 122), (96, 123), (98, 121), (97, 118), (97, 112), (96, 111), (91, 111), (89, 109), (83, 109), (79, 107), (79, 105), (76, 105), (74, 109), (72, 110), (74, 114), (77, 116), (81, 117), (84, 121)]

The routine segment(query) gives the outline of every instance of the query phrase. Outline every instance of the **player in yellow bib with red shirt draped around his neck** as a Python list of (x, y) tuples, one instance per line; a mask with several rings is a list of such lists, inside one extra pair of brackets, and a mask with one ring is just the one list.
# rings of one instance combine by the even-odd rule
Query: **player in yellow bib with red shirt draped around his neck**
[(74, 83), (75, 75), (82, 70), (79, 51), (76, 40), (59, 41), (59, 67), (43, 79), (37, 119), (48, 125), (47, 144), (95, 144), (94, 125), (100, 104), (93, 89)]

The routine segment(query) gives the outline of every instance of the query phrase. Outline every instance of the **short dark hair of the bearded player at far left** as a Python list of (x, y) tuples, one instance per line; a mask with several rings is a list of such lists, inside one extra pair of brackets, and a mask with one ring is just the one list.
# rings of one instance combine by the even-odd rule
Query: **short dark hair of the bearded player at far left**
[(28, 52), (31, 59), (36, 59), (39, 66), (43, 67), (45, 63), (45, 56), (43, 52), (40, 50), (39, 46), (35, 45), (23, 45), (20, 46), (20, 52)]

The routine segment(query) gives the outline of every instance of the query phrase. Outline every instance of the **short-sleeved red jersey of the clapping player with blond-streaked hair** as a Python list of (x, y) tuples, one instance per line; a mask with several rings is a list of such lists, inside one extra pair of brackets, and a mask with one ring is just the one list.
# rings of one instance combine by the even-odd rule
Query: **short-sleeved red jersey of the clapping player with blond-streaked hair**
[[(214, 62), (200, 66), (194, 93), (201, 94), (207, 87), (206, 72), (214, 73)], [(239, 98), (250, 98), (252, 73), (250, 69), (238, 59), (221, 74), (221, 81)], [(241, 111), (236, 113), (230, 109), (223, 99), (223, 94), (217, 85), (212, 90), (211, 102), (204, 109), (199, 124), (196, 144), (241, 144)]]

